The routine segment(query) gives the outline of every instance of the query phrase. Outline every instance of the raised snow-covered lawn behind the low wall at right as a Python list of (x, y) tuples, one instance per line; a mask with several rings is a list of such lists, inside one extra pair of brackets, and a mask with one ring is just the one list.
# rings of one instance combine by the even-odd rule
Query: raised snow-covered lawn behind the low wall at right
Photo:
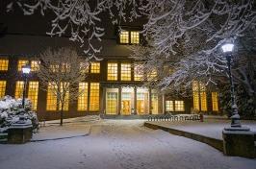
[[(183, 121), (183, 122), (152, 122), (168, 128), (180, 131), (199, 133), (209, 137), (222, 139), (222, 130), (230, 127), (230, 120), (214, 120), (206, 119), (204, 122), (199, 121)], [(256, 121), (243, 120), (243, 126), (249, 127), (251, 131), (256, 132)]]

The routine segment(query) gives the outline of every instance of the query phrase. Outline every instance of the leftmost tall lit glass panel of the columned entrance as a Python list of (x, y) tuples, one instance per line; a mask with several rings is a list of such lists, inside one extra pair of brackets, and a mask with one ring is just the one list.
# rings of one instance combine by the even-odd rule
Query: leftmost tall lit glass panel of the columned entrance
[(107, 92), (107, 114), (116, 114), (117, 111), (117, 93)]

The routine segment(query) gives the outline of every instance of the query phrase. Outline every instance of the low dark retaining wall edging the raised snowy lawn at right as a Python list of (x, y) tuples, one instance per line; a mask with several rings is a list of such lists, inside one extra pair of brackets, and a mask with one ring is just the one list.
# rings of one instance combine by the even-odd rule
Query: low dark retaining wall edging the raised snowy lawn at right
[(164, 126), (152, 124), (149, 122), (144, 122), (144, 126), (147, 128), (153, 129), (153, 130), (159, 129), (159, 130), (163, 130), (167, 133), (172, 133), (175, 135), (191, 138), (195, 141), (199, 141), (199, 142), (208, 144), (208, 145), (214, 147), (215, 149), (217, 149), (218, 151), (223, 152), (223, 140), (221, 140), (221, 139), (208, 137), (208, 136), (201, 135), (198, 133), (189, 133), (189, 132), (184, 132), (184, 131), (180, 131), (180, 130), (176, 130), (176, 129), (171, 129), (171, 128), (167, 128)]

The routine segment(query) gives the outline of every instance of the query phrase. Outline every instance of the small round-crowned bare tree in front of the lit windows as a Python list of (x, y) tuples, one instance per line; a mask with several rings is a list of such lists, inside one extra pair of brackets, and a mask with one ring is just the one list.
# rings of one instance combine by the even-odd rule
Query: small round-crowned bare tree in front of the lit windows
[(76, 100), (84, 92), (78, 87), (80, 82), (85, 81), (88, 67), (89, 61), (69, 48), (47, 49), (40, 55), (38, 78), (42, 89), (56, 97), (57, 109), (61, 111), (61, 126), (65, 104)]

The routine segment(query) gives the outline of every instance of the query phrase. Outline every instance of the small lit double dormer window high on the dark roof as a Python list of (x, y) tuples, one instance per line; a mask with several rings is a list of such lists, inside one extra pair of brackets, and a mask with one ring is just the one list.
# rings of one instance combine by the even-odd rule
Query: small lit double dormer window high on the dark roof
[(140, 32), (139, 31), (121, 31), (119, 35), (120, 44), (139, 44)]

